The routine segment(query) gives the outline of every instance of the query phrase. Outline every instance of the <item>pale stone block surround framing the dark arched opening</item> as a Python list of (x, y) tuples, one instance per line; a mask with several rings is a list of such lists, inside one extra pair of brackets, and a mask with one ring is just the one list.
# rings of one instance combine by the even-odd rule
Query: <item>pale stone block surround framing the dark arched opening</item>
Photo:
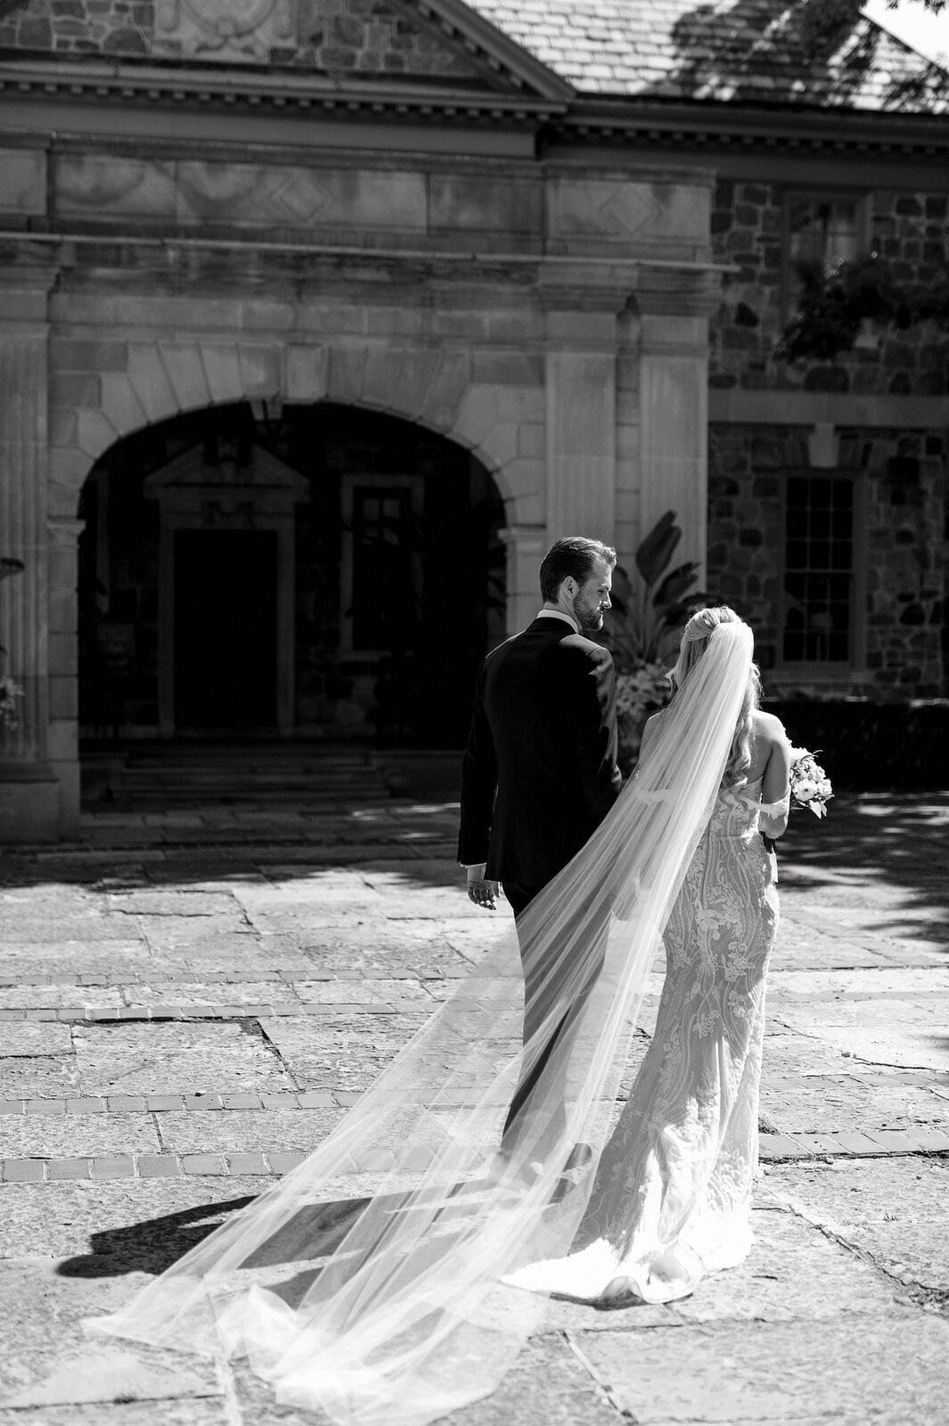
[(95, 461), (135, 431), (234, 401), (335, 401), (415, 422), (470, 451), (497, 485), (507, 526), (506, 627), (513, 632), (533, 612), (546, 536), (546, 392), (543, 362), (499, 361), (492, 366), (467, 349), (392, 339), (312, 344), (160, 334), (125, 339), (121, 331), (110, 341), (64, 341), (53, 348), (50, 559), (43, 575), (48, 653), (41, 650), (47, 667), (37, 684), (48, 697), (37, 700), (36, 716), (47, 729), (40, 734), (48, 747), (46, 766), (60, 784), (60, 833), (78, 816), (77, 508)]

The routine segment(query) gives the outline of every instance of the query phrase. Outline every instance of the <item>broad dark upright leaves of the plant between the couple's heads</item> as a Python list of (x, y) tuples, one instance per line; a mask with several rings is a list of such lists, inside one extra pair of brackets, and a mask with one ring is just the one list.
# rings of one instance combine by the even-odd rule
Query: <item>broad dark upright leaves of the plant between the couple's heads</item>
[(693, 588), (698, 579), (694, 560), (670, 569), (681, 538), (675, 512), (667, 511), (636, 550), (638, 578), (630, 578), (621, 566), (616, 569), (613, 607), (601, 637), (621, 673), (658, 663), (670, 636), (708, 599)]

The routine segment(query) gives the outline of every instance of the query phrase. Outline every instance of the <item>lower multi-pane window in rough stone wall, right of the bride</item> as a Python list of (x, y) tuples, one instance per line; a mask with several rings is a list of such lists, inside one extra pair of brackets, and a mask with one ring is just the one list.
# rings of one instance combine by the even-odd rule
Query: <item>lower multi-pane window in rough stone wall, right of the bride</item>
[(791, 476), (785, 496), (782, 662), (855, 660), (856, 482)]

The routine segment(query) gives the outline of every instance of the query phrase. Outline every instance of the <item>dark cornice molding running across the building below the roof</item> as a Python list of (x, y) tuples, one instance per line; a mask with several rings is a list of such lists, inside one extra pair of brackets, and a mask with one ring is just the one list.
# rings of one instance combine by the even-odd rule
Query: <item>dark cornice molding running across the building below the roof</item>
[[(577, 94), (546, 66), (473, 16), (460, 0), (420, 0), (422, 11), (445, 19), (465, 11), (492, 31), (493, 64), (512, 88), (425, 84), (402, 78), (335, 77), (289, 70), (217, 68), (108, 61), (98, 57), (41, 57), (0, 61), (0, 97), (13, 101), (66, 101), (83, 108), (155, 110), (174, 104), (192, 113), (241, 113), (265, 118), (447, 120), (476, 125), (543, 130), (547, 151), (557, 145), (664, 150), (681, 145), (694, 155), (769, 154), (872, 158), (943, 158), (949, 154), (945, 116), (742, 107), (720, 103), (655, 103)], [(406, 13), (408, 6), (406, 6)], [(412, 7), (419, 14), (419, 6)], [(469, 24), (469, 30), (472, 26)], [(460, 33), (460, 30), (457, 31)], [(459, 41), (460, 43), (460, 41)], [(483, 60), (480, 46), (470, 43)], [(499, 53), (503, 51), (503, 63)], [(487, 50), (484, 50), (487, 53)], [(516, 63), (522, 56), (523, 61)], [(831, 120), (831, 121), (829, 121)]]

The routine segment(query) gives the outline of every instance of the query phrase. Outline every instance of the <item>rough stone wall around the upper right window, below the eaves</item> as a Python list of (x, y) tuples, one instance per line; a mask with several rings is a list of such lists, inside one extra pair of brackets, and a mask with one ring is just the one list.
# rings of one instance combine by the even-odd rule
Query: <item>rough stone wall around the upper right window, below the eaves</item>
[[(926, 282), (949, 245), (945, 193), (873, 193), (869, 250), (898, 278)], [(711, 215), (718, 261), (738, 271), (724, 278), (711, 324), (712, 388), (831, 391), (856, 395), (938, 396), (949, 391), (949, 335), (929, 325), (869, 337), (838, 362), (775, 361), (774, 348), (797, 302), (784, 251), (784, 188), (720, 181)]]

